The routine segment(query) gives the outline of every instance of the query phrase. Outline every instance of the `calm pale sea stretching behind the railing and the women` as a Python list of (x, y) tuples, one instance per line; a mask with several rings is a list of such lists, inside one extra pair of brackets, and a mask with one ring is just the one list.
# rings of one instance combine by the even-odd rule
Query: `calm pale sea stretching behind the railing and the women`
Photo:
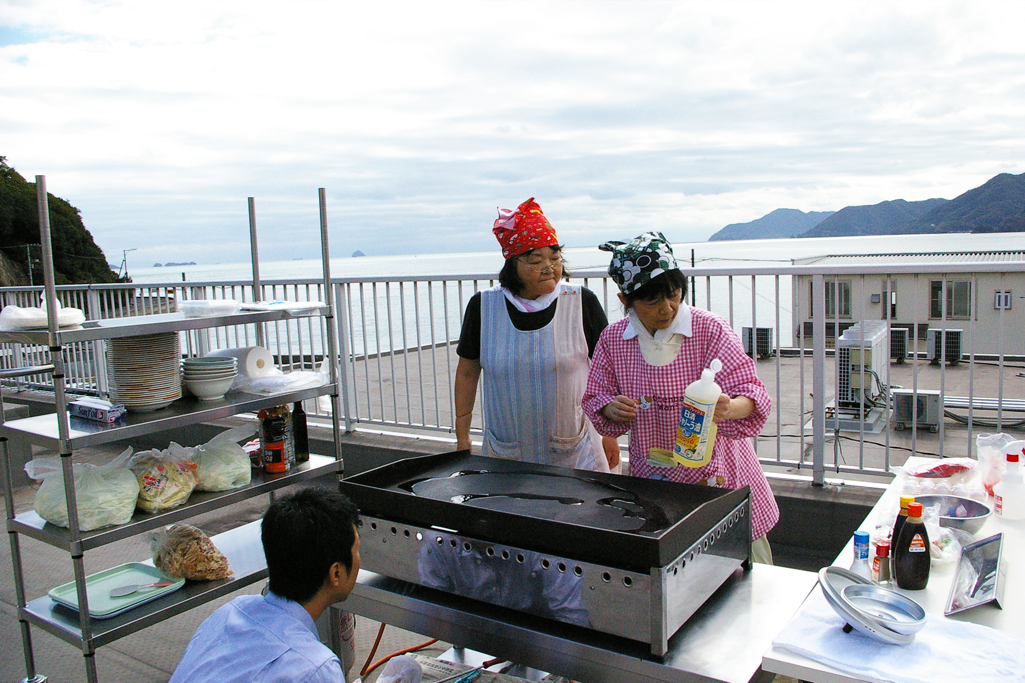
[[(624, 236), (624, 239), (629, 236)], [(803, 239), (736, 240), (716, 242), (676, 242), (678, 263), (686, 271), (691, 266), (691, 250), (698, 268), (742, 269), (778, 265), (791, 259), (831, 254), (915, 253), (936, 251), (1012, 250), (1025, 248), (1025, 233), (988, 235), (887, 235), (869, 237), (824, 237)], [(608, 252), (597, 247), (567, 245), (564, 251), (571, 271), (604, 275)], [(462, 310), (477, 289), (491, 286), (503, 259), (496, 244), (492, 251), (435, 254), (393, 254), (331, 259), (332, 278), (398, 278), (466, 276), (456, 282), (377, 284), (356, 286), (350, 291), (352, 315), (347, 342), (353, 354), (373, 355), (397, 349), (422, 348), (445, 344), (459, 337)], [(176, 284), (182, 276), (191, 283), (252, 281), (249, 263), (201, 264), (166, 268), (131, 269), (136, 284)], [(320, 280), (320, 258), (260, 263), (260, 280)], [(473, 278), (480, 278), (471, 281)], [(583, 284), (582, 280), (574, 280)], [(609, 321), (622, 317), (611, 281), (590, 279), (589, 286), (605, 307)], [(713, 278), (695, 280), (695, 300), (727, 319), (738, 333), (742, 327), (776, 328), (779, 313), (778, 343), (791, 346), (791, 284), (789, 276), (738, 276), (730, 281)], [(708, 286), (710, 284), (710, 287)], [(753, 291), (752, 291), (753, 286)], [(776, 290), (778, 287), (778, 300)], [(291, 295), (289, 295), (291, 297)], [(732, 303), (732, 306), (731, 306)], [(306, 335), (300, 330), (303, 338)], [(316, 336), (316, 335), (315, 335)], [(319, 347), (317, 339), (314, 346)], [(319, 350), (318, 350), (319, 352)], [(444, 361), (442, 361), (444, 362)]]

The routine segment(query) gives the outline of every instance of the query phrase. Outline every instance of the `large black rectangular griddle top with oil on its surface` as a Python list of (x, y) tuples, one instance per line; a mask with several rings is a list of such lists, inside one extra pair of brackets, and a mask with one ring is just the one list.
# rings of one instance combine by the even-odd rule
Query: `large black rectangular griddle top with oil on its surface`
[(340, 488), (368, 516), (646, 573), (669, 564), (749, 496), (746, 486), (680, 484), (468, 450), (397, 460)]

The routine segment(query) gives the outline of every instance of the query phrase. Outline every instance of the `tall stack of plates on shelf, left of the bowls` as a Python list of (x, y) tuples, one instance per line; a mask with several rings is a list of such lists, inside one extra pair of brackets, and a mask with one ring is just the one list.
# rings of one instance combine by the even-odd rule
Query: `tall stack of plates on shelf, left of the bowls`
[(107, 339), (111, 398), (135, 412), (166, 408), (181, 398), (177, 332)]

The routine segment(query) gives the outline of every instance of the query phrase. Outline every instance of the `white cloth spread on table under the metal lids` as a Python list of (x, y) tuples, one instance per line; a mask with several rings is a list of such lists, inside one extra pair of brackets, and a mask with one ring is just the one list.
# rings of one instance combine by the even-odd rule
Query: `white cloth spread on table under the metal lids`
[(912, 643), (890, 645), (844, 624), (816, 587), (773, 646), (885, 683), (1025, 681), (1025, 641), (989, 627), (930, 614)]

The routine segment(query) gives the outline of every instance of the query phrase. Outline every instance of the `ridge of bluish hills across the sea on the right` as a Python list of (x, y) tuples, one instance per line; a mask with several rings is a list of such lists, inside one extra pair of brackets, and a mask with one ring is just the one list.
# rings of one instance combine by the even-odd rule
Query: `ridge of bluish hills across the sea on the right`
[(750, 223), (731, 224), (708, 241), (1019, 231), (1025, 231), (1025, 173), (1000, 173), (949, 200), (894, 199), (807, 213), (776, 209)]

